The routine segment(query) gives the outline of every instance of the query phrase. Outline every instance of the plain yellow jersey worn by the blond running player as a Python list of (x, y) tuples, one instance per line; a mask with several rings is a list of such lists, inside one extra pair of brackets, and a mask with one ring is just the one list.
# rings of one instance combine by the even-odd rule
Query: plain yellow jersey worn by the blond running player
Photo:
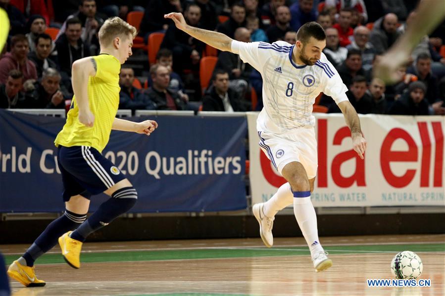
[(120, 62), (112, 55), (93, 56), (96, 60), (96, 76), (88, 81), (90, 110), (95, 116), (93, 127), (79, 122), (79, 108), (73, 96), (66, 123), (54, 140), (56, 146), (90, 146), (102, 153), (108, 143), (111, 127), (119, 107)]

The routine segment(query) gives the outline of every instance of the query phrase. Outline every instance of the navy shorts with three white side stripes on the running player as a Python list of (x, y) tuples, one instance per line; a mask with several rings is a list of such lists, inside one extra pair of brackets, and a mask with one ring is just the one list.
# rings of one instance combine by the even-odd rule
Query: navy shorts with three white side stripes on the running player
[(59, 146), (57, 163), (62, 175), (65, 202), (79, 194), (90, 199), (92, 195), (125, 179), (125, 175), (112, 162), (89, 146)]

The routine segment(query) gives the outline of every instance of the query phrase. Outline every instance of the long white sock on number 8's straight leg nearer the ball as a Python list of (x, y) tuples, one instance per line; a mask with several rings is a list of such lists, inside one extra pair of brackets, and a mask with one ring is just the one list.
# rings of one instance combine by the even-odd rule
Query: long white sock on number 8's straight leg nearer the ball
[(311, 256), (313, 257), (315, 253), (323, 252), (318, 239), (317, 216), (310, 196), (294, 198), (294, 214), (309, 247)]

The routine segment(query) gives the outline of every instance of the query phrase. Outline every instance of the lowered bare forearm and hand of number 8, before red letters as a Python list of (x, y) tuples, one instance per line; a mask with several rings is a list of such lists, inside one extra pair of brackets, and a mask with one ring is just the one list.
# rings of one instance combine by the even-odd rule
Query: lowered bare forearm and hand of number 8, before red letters
[(363, 159), (367, 143), (361, 133), (360, 120), (358, 119), (357, 112), (355, 112), (354, 107), (349, 101), (340, 102), (339, 108), (345, 117), (346, 125), (351, 130), (353, 149), (357, 152), (358, 156)]

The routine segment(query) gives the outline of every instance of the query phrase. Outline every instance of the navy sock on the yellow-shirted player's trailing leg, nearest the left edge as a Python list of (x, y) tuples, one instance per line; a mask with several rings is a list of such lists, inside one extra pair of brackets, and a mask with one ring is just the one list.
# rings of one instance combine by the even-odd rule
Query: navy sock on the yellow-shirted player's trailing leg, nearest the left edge
[[(84, 222), (87, 214), (76, 214), (66, 210), (63, 215), (49, 223), (42, 234), (34, 241), (34, 243), (23, 254), (27, 266), (33, 266), (34, 261), (41, 255), (47, 253), (57, 244), (57, 239), (65, 232), (76, 228), (80, 223)], [(20, 264), (23, 260), (19, 259)]]

